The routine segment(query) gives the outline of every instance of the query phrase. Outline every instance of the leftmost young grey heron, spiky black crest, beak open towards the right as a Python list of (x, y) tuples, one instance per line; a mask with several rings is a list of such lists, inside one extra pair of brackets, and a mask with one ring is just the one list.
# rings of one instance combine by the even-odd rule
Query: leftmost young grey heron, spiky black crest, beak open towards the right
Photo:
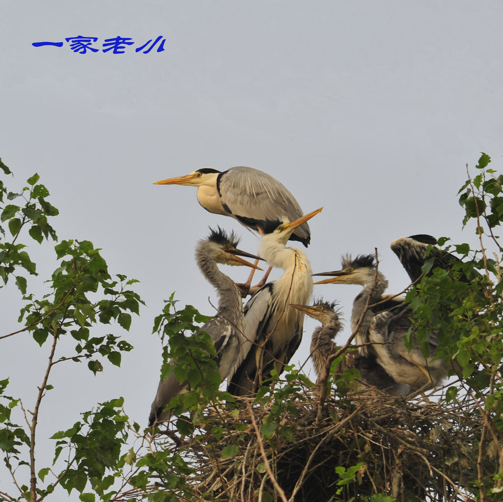
[[(218, 269), (217, 263), (258, 268), (239, 258), (243, 256), (257, 259), (255, 255), (237, 249), (238, 242), (234, 233), (229, 236), (218, 227), (218, 230), (210, 228), (209, 236), (201, 239), (196, 246), (197, 265), (218, 293), (218, 314), (201, 329), (213, 340), (217, 352), (218, 372), (222, 379), (232, 375), (241, 362), (242, 359), (238, 356), (245, 338), (241, 295), (232, 279)], [(148, 417), (149, 427), (170, 419), (172, 410), (164, 411), (164, 407), (184, 392), (186, 386), (187, 382), (180, 382), (174, 373), (169, 378), (160, 380)]]

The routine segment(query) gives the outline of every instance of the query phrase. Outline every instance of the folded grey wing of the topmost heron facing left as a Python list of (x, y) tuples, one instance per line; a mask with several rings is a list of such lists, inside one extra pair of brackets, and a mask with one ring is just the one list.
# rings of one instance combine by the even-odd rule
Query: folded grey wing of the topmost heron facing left
[[(257, 169), (239, 166), (218, 177), (218, 193), (223, 208), (241, 223), (256, 228), (258, 222), (287, 217), (289, 221), (304, 213), (294, 196), (278, 180)], [(298, 227), (298, 240), (309, 243), (309, 225)]]

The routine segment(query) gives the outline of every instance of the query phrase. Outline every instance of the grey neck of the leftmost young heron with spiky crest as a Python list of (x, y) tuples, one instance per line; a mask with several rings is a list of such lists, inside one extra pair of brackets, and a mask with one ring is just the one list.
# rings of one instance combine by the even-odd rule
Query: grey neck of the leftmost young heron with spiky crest
[(217, 290), (218, 315), (242, 330), (244, 327), (243, 304), (234, 281), (220, 272), (215, 261), (203, 253), (198, 253), (197, 264), (206, 279)]

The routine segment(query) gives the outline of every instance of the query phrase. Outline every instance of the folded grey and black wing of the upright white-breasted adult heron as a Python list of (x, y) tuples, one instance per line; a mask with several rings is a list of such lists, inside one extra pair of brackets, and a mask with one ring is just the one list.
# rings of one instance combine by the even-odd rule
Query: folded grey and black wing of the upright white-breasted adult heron
[(240, 348), (240, 364), (231, 377), (227, 391), (234, 396), (253, 394), (256, 389), (258, 347), (272, 314), (272, 283), (266, 284), (244, 306), (245, 342)]

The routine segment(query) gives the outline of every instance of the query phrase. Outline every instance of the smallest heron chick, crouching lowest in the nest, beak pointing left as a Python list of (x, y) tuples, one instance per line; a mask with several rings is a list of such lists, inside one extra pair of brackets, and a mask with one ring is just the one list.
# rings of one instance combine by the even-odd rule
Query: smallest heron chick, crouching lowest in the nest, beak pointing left
[[(311, 360), (317, 375), (316, 383), (320, 383), (324, 376), (328, 358), (337, 352), (333, 339), (342, 329), (342, 322), (340, 321), (341, 312), (334, 308), (336, 302), (323, 301), (321, 298), (313, 305), (291, 305), (321, 322), (321, 326), (313, 331), (311, 337)], [(371, 386), (392, 396), (405, 395), (409, 390), (408, 385), (396, 383), (384, 371), (384, 368), (372, 354), (365, 357), (357, 351), (346, 353), (344, 362), (339, 370), (342, 372), (345, 368), (356, 368), (359, 370), (359, 388), (362, 390)]]

